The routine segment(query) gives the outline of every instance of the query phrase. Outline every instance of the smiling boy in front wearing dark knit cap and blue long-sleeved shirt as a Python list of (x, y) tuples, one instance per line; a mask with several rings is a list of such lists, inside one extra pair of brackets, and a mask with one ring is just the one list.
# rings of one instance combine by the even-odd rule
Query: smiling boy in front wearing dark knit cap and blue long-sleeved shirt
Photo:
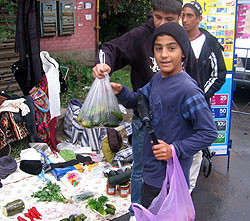
[[(137, 107), (138, 94), (144, 95), (152, 111), (152, 125), (159, 144), (149, 134), (143, 144), (143, 186), (141, 204), (148, 208), (160, 193), (166, 163), (175, 148), (187, 184), (193, 155), (217, 138), (216, 126), (204, 92), (182, 66), (187, 59), (189, 39), (179, 24), (169, 22), (155, 29), (152, 37), (154, 57), (160, 71), (137, 92), (111, 83), (118, 100), (126, 108)], [(178, 220), (178, 217), (176, 217)]]

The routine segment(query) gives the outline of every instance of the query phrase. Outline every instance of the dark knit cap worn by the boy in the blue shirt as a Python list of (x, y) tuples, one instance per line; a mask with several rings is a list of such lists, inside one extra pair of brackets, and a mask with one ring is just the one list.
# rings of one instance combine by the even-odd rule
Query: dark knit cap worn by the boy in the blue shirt
[(182, 53), (184, 54), (185, 58), (187, 58), (188, 52), (189, 52), (189, 47), (190, 47), (188, 34), (181, 25), (179, 25), (175, 22), (165, 23), (163, 25), (160, 25), (158, 28), (156, 28), (154, 30), (153, 37), (152, 37), (153, 53), (154, 53), (155, 39), (159, 35), (162, 35), (162, 34), (166, 34), (166, 35), (173, 37), (180, 45), (180, 47), (182, 49)]

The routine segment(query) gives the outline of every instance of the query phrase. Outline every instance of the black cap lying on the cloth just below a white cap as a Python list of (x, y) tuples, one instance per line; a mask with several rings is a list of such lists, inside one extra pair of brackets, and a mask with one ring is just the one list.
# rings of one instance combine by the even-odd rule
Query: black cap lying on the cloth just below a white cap
[(21, 160), (20, 169), (28, 174), (38, 175), (42, 172), (40, 160)]

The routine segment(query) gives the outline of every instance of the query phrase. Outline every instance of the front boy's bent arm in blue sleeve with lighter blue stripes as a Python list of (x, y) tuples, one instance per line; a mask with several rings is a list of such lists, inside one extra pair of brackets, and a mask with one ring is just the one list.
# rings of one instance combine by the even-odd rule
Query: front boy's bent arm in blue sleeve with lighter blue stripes
[(182, 117), (190, 121), (193, 134), (183, 140), (173, 142), (178, 157), (183, 158), (194, 155), (197, 151), (210, 146), (217, 138), (216, 126), (212, 113), (204, 95), (201, 92), (186, 93), (187, 96), (181, 106)]

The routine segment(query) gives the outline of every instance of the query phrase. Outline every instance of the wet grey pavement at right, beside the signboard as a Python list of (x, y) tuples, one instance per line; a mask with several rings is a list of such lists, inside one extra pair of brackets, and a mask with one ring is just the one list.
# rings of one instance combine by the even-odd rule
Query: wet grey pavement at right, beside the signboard
[[(249, 101), (250, 89), (234, 93), (237, 107)], [(250, 114), (250, 105), (244, 112)], [(199, 176), (193, 193), (196, 221), (250, 220), (250, 115), (232, 113), (231, 139), (229, 170), (228, 157), (215, 156), (211, 175)]]

